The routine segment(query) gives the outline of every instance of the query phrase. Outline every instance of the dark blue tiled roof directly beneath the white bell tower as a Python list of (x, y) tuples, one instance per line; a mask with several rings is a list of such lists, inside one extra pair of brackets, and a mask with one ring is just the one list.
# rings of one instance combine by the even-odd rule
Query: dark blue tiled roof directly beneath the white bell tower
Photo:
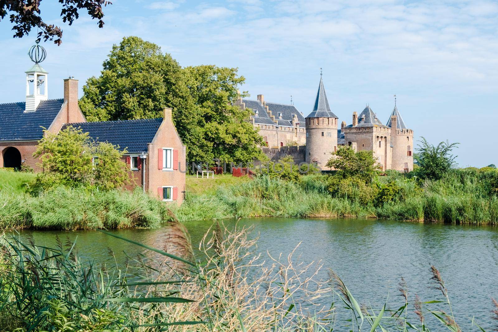
[(0, 141), (39, 140), (52, 124), (64, 99), (41, 101), (36, 111), (24, 112), (25, 104), (0, 104)]

